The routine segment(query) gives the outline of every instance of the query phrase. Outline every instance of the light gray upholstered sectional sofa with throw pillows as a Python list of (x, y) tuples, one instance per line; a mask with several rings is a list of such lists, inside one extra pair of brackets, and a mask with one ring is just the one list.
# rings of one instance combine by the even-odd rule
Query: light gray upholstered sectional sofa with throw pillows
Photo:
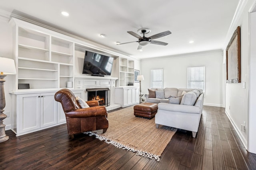
[[(149, 89), (149, 92), (150, 90), (155, 89)], [(157, 95), (159, 91), (164, 91), (164, 97), (162, 94)], [(165, 125), (184, 129), (192, 131), (192, 136), (196, 137), (204, 103), (202, 90), (164, 88), (155, 90), (155, 93), (155, 98), (150, 96), (150, 93), (145, 94), (145, 97), (146, 102), (158, 103), (158, 111), (155, 115), (156, 128)]]

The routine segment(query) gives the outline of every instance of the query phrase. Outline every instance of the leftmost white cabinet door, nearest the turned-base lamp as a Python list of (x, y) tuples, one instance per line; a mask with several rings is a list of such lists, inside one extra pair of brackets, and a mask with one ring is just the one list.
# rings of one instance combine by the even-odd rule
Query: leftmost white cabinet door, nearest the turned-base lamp
[(40, 128), (40, 94), (20, 95), (18, 104), (18, 133), (38, 128)]

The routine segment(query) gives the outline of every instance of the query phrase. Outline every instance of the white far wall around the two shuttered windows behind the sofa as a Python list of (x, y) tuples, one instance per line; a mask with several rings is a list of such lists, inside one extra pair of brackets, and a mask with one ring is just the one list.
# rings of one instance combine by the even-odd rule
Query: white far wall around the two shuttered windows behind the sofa
[(144, 59), (141, 61), (141, 74), (144, 75), (142, 93), (150, 88), (150, 70), (164, 69), (164, 88), (186, 88), (187, 67), (205, 66), (204, 105), (222, 107), (222, 51), (169, 56), (165, 58)]

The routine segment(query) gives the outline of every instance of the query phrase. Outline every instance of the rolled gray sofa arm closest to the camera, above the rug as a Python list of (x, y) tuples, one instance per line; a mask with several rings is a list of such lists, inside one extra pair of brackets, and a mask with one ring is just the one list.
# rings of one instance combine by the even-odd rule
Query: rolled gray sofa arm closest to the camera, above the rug
[(201, 108), (200, 107), (183, 105), (183, 104), (159, 103), (158, 104), (158, 109), (167, 110), (167, 111), (183, 112), (183, 113), (201, 114)]

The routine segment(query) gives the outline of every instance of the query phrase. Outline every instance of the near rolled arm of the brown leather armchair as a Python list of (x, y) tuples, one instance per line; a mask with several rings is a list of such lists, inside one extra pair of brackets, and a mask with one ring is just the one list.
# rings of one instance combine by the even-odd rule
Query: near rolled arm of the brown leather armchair
[(83, 117), (95, 117), (95, 116), (107, 116), (105, 106), (88, 107), (82, 109), (76, 109), (66, 113), (67, 117), (72, 118), (83, 118)]

